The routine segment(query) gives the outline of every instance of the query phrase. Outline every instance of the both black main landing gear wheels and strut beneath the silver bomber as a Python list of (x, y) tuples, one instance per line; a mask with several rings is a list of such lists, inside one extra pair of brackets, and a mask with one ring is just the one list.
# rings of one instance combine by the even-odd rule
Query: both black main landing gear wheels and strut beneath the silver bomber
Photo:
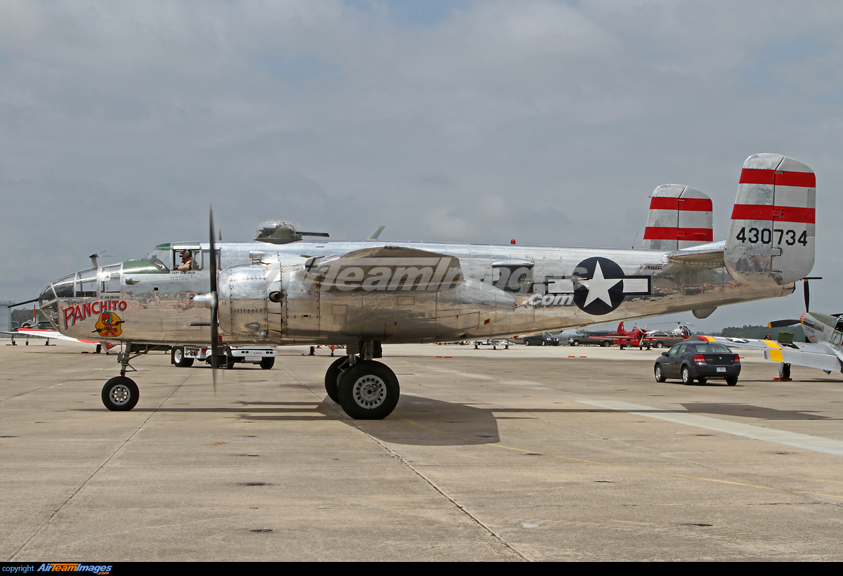
[(380, 342), (362, 342), (360, 354), (349, 350), (325, 372), (325, 392), (355, 420), (382, 420), (398, 404), (400, 387), (395, 372), (380, 357)]

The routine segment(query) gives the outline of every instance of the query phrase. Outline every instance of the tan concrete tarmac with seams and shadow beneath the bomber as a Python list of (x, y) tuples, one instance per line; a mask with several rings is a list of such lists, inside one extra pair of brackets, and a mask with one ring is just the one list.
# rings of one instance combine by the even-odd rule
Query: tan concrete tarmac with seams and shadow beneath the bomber
[[(7, 341), (8, 342), (8, 341)], [(275, 368), (0, 346), (0, 557), (47, 561), (843, 560), (843, 375), (742, 351), (384, 346), (401, 400), (352, 421), (330, 351)], [(572, 358), (573, 357), (573, 358)]]

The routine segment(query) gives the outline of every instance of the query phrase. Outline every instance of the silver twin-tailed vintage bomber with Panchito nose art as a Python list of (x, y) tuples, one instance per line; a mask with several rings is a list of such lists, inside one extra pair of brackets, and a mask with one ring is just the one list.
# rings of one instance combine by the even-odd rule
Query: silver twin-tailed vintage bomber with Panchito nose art
[[(62, 277), (44, 288), (40, 308), (62, 334), (126, 344), (121, 375), (103, 389), (110, 410), (135, 406), (126, 369), (155, 346), (345, 344), (325, 374), (328, 396), (353, 418), (379, 419), (399, 396), (395, 373), (376, 360), (383, 343), (685, 310), (703, 318), (792, 293), (813, 267), (814, 197), (808, 166), (765, 153), (744, 163), (720, 242), (710, 241), (711, 201), (676, 185), (653, 193), (643, 250), (305, 241), (292, 223), (217, 247), (211, 223), (208, 243), (158, 245), (140, 260)], [(185, 272), (179, 256), (190, 262)]]

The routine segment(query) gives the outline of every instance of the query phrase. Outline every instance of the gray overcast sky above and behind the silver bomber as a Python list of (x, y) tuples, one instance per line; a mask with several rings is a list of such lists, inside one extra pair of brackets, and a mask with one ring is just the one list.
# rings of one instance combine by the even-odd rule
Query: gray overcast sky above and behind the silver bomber
[[(0, 299), (284, 218), (332, 239), (641, 245), (741, 165), (817, 174), (812, 310), (843, 311), (843, 3), (0, 2)], [(803, 311), (735, 304), (703, 330)], [(798, 317), (798, 316), (796, 316)], [(642, 322), (644, 324), (645, 322)]]

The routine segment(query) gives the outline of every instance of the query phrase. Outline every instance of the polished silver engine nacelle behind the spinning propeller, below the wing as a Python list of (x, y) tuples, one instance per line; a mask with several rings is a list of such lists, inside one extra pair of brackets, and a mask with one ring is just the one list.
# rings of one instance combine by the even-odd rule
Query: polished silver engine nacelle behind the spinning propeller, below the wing
[(461, 275), (433, 290), (383, 285), (339, 289), (279, 262), (231, 266), (219, 275), (219, 328), (238, 342), (431, 342), (469, 335), (516, 307), (512, 294)]

